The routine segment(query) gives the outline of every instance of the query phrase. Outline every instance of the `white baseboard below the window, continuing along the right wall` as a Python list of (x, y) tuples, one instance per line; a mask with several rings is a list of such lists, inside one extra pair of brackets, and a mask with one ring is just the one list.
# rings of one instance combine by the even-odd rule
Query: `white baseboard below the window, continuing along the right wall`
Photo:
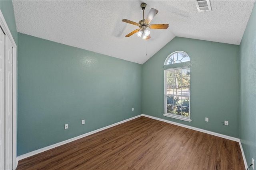
[(207, 133), (207, 134), (210, 134), (210, 135), (214, 135), (214, 136), (217, 136), (217, 137), (222, 137), (222, 138), (224, 138), (224, 139), (229, 139), (229, 140), (231, 140), (231, 141), (236, 141), (236, 142), (238, 142), (239, 145), (240, 145), (240, 149), (241, 149), (242, 156), (243, 156), (243, 160), (244, 160), (244, 167), (245, 167), (245, 169), (248, 168), (248, 165), (247, 165), (247, 162), (246, 162), (246, 158), (245, 158), (245, 154), (244, 154), (244, 150), (243, 150), (241, 141), (240, 141), (240, 139), (238, 139), (238, 138), (230, 137), (230, 136), (227, 136), (227, 135), (222, 135), (222, 134), (220, 134), (220, 133), (215, 133), (215, 132), (212, 132), (212, 131), (206, 131), (206, 130), (204, 130), (204, 129), (200, 129), (200, 128), (197, 128), (197, 127), (192, 127), (192, 126), (188, 126), (188, 125), (183, 125), (183, 124), (181, 124), (181, 123), (176, 123), (176, 122), (173, 122), (173, 121), (161, 119), (161, 118), (154, 117), (154, 116), (150, 116), (150, 115), (142, 114), (142, 116), (149, 117), (149, 118), (151, 118), (151, 119), (156, 119), (156, 120), (159, 120), (159, 121), (164, 121), (164, 122), (166, 122), (166, 123), (170, 123), (170, 124), (177, 125), (177, 126), (186, 127), (186, 128), (188, 128), (188, 129), (192, 129), (192, 130), (195, 130), (195, 131), (200, 131), (200, 132)]

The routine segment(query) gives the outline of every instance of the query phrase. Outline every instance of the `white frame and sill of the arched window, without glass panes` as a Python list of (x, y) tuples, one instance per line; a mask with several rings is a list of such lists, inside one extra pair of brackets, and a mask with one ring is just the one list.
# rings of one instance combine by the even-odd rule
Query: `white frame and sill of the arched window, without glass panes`
[[(183, 121), (188, 121), (188, 122), (191, 122), (192, 120), (190, 119), (191, 115), (190, 115), (190, 100), (189, 100), (189, 117), (185, 117), (185, 116), (182, 116), (182, 115), (176, 115), (176, 114), (173, 114), (173, 113), (167, 113), (167, 96), (170, 96), (170, 95), (167, 95), (167, 75), (166, 75), (166, 72), (167, 70), (175, 70), (175, 69), (185, 69), (185, 68), (190, 68), (190, 64), (191, 62), (190, 61), (187, 61), (187, 62), (183, 62), (183, 63), (173, 63), (173, 64), (166, 64), (169, 60), (169, 58), (174, 55), (175, 53), (179, 53), (179, 52), (182, 52), (182, 53), (185, 53), (184, 51), (175, 51), (174, 53), (171, 53), (170, 55), (168, 55), (168, 57), (166, 58), (166, 60), (164, 61), (164, 116), (166, 117), (171, 117), (171, 118), (174, 118), (174, 119), (179, 119), (179, 120), (183, 120)], [(187, 53), (185, 53), (186, 55), (188, 55)], [(189, 56), (188, 56), (189, 57)], [(190, 57), (189, 57), (190, 59)], [(190, 70), (191, 72), (191, 70)], [(191, 83), (190, 83), (191, 85)], [(191, 86), (190, 86), (191, 88)], [(171, 95), (171, 96), (175, 96), (175, 95)], [(189, 99), (191, 98), (191, 96), (189, 95)]]

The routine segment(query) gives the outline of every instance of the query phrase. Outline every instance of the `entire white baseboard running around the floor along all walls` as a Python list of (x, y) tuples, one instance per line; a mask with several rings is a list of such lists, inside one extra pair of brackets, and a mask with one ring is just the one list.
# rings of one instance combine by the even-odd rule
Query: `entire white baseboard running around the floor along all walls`
[(53, 149), (53, 148), (55, 148), (55, 147), (59, 147), (59, 146), (61, 146), (61, 145), (64, 145), (64, 144), (66, 144), (66, 143), (70, 143), (70, 142), (72, 142), (72, 141), (76, 141), (76, 140), (81, 139), (81, 138), (83, 138), (83, 137), (92, 135), (92, 134), (97, 133), (97, 132), (99, 132), (99, 131), (103, 131), (103, 130), (108, 129), (108, 128), (110, 128), (110, 127), (114, 127), (114, 126), (116, 126), (116, 125), (119, 125), (119, 124), (121, 124), (121, 123), (130, 121), (130, 120), (132, 120), (132, 119), (136, 119), (136, 118), (141, 117), (141, 116), (148, 117), (148, 118), (155, 119), (155, 120), (159, 120), (159, 121), (163, 121), (163, 122), (170, 123), (170, 124), (173, 124), (173, 125), (178, 125), (178, 126), (181, 126), (181, 127), (185, 127), (185, 128), (188, 128), (188, 129), (195, 130), (195, 131), (207, 133), (207, 134), (214, 135), (214, 136), (217, 136), (217, 137), (222, 137), (222, 138), (224, 138), (224, 139), (229, 139), (229, 140), (231, 140), (231, 141), (236, 141), (236, 142), (239, 143), (240, 148), (241, 148), (242, 156), (243, 156), (243, 159), (244, 159), (244, 166), (245, 166), (245, 169), (248, 167), (247, 162), (246, 162), (246, 158), (245, 158), (245, 155), (244, 155), (244, 150), (243, 150), (243, 147), (242, 147), (242, 144), (241, 144), (240, 139), (235, 138), (235, 137), (230, 137), (230, 136), (227, 136), (227, 135), (222, 135), (222, 134), (220, 134), (220, 133), (215, 133), (215, 132), (212, 132), (212, 131), (207, 131), (207, 130), (200, 129), (200, 128), (197, 128), (197, 127), (192, 127), (192, 126), (184, 125), (184, 124), (181, 124), (181, 123), (176, 123), (176, 122), (173, 122), (173, 121), (161, 119), (161, 118), (158, 118), (158, 117), (154, 117), (154, 116), (150, 116), (150, 115), (145, 115), (145, 114), (140, 114), (140, 115), (138, 115), (138, 116), (134, 116), (134, 117), (131, 117), (131, 118), (129, 118), (129, 119), (126, 119), (126, 120), (123, 120), (123, 121), (114, 123), (114, 124), (112, 124), (112, 125), (108, 125), (108, 126), (106, 126), (106, 127), (102, 127), (102, 128), (97, 129), (97, 130), (95, 130), (95, 131), (91, 131), (91, 132), (85, 133), (85, 134), (83, 134), (83, 135), (74, 137), (74, 138), (72, 138), (72, 139), (68, 139), (68, 140), (66, 140), (66, 141), (62, 141), (62, 142), (60, 142), (60, 143), (56, 143), (56, 144), (54, 144), (54, 145), (50, 145), (50, 146), (48, 146), (48, 147), (44, 147), (44, 148), (42, 148), (42, 149), (34, 150), (34, 151), (32, 151), (32, 152), (28, 152), (28, 153), (26, 153), (26, 154), (20, 155), (20, 156), (17, 157), (17, 164), (18, 164), (18, 161), (19, 161), (19, 160), (22, 160), (22, 159), (24, 159), (24, 158), (28, 158), (28, 157), (33, 156), (33, 155), (35, 155), (35, 154), (39, 154), (39, 153), (44, 152), (44, 151), (46, 151), (46, 150), (50, 150), (50, 149)]

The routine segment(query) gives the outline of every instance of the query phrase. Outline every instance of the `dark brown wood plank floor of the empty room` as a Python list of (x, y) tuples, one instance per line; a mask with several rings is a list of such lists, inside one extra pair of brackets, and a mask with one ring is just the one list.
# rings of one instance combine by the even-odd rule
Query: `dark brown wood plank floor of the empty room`
[(238, 142), (139, 117), (20, 160), (18, 170), (244, 170)]

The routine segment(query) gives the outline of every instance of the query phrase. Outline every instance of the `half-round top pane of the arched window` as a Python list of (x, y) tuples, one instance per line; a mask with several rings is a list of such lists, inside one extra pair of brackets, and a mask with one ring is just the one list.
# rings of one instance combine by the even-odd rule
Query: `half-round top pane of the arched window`
[(166, 61), (164, 62), (164, 65), (183, 63), (186, 61), (190, 61), (188, 54), (183, 51), (176, 51), (168, 55), (168, 57), (166, 58)]

